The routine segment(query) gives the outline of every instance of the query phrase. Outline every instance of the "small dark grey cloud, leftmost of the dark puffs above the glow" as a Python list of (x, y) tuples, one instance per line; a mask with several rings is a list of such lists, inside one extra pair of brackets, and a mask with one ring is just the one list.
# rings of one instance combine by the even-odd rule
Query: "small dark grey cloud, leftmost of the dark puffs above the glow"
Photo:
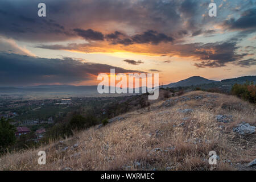
[(85, 40), (104, 40), (104, 35), (101, 32), (93, 31), (92, 29), (82, 30), (75, 28), (74, 31)]

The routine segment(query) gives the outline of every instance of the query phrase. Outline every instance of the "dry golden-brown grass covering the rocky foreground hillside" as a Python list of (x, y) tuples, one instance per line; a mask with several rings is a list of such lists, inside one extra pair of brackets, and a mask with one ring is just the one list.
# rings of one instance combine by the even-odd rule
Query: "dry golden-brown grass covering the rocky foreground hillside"
[[(63, 142), (7, 154), (0, 158), (0, 170), (245, 169), (245, 164), (256, 158), (255, 134), (242, 138), (232, 128), (241, 121), (255, 126), (255, 106), (223, 94), (196, 91), (183, 96), (199, 95), (205, 98), (180, 101), (171, 107), (158, 102), (151, 105), (151, 111), (137, 110), (122, 115), (125, 120), (101, 129), (92, 127)], [(179, 109), (193, 111), (185, 114)], [(233, 115), (233, 122), (219, 123), (215, 119), (217, 114)], [(184, 125), (177, 126), (180, 123)], [(79, 147), (61, 151), (75, 143)], [(38, 164), (40, 150), (46, 151), (46, 165)], [(208, 153), (212, 150), (220, 156), (217, 165), (208, 163)]]

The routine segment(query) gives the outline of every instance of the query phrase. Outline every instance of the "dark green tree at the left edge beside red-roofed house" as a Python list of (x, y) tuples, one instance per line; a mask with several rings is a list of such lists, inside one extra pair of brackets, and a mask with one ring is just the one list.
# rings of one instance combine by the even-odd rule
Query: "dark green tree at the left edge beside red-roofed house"
[(15, 131), (15, 127), (10, 124), (10, 119), (0, 119), (0, 151), (15, 143)]

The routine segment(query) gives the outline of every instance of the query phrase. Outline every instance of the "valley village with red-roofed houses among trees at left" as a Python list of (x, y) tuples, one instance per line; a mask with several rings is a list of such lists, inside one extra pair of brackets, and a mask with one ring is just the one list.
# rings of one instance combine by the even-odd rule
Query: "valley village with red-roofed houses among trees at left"
[[(29, 100), (29, 101), (10, 101), (5, 97), (1, 97), (2, 102), (0, 104), (0, 118), (10, 119), (11, 125), (16, 127), (15, 137), (19, 138), (21, 135), (32, 134), (34, 142), (38, 142), (47, 129), (52, 127), (55, 118), (61, 116), (63, 112), (45, 115), (41, 117), (33, 117), (33, 113), (37, 113), (44, 107), (60, 105), (63, 108), (72, 105), (71, 98), (63, 98), (60, 100)], [(30, 110), (25, 110), (29, 108)], [(24, 110), (24, 111), (23, 111)]]

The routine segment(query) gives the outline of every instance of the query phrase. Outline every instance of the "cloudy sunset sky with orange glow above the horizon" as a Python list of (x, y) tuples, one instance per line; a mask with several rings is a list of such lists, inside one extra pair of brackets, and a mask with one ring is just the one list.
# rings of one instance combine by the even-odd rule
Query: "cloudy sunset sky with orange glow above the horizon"
[(0, 1), (0, 86), (97, 85), (111, 68), (223, 80), (256, 75), (255, 50), (253, 0)]

